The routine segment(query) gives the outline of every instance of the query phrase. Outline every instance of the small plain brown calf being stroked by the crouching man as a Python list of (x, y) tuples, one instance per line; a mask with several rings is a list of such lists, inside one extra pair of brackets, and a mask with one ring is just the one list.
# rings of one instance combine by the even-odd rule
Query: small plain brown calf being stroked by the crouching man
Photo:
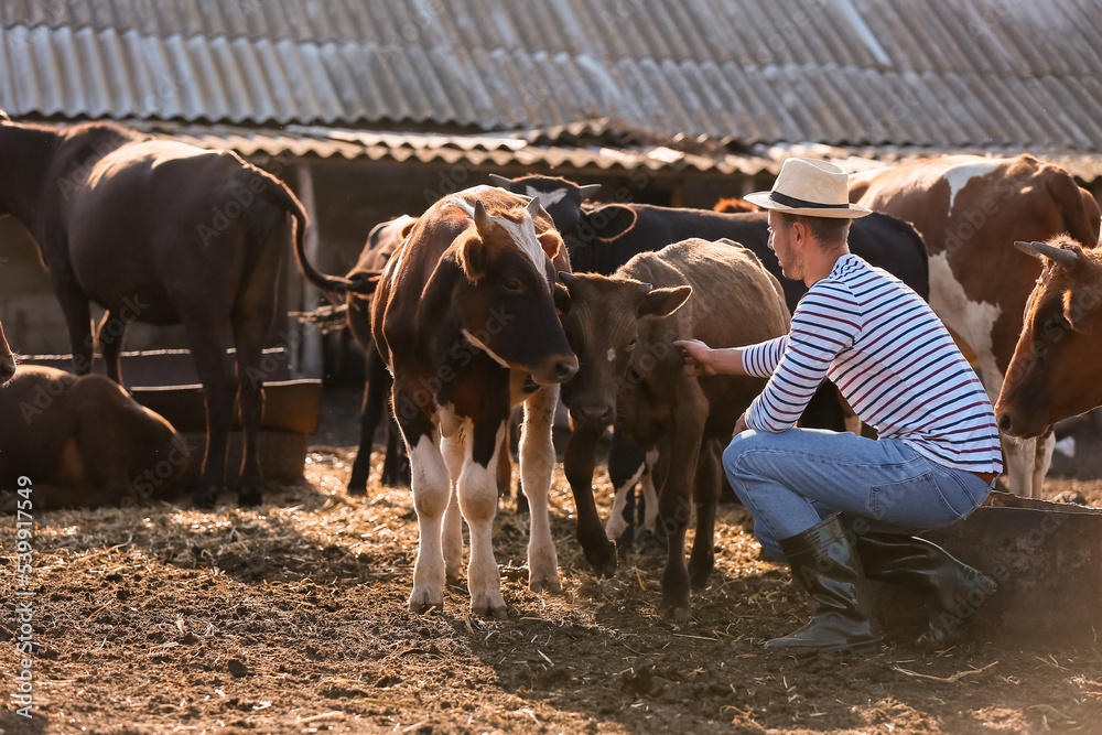
[[(716, 443), (731, 439), (766, 381), (690, 378), (673, 342), (741, 346), (787, 334), (784, 291), (753, 251), (730, 240), (689, 239), (640, 253), (612, 275), (560, 279), (570, 295), (563, 326), (579, 359), (571, 383), (574, 431), (564, 455), (575, 505), (593, 502), (594, 443), (607, 424), (635, 451), (658, 447), (658, 517), (668, 552), (660, 610), (688, 620), (690, 584), (704, 585), (714, 565)], [(696, 536), (687, 566), (693, 501)]]

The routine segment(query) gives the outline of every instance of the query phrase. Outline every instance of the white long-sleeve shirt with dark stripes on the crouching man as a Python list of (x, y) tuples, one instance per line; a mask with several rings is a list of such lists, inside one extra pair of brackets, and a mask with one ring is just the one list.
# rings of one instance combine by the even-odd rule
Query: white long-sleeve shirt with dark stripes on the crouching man
[(929, 305), (854, 255), (838, 259), (792, 314), (789, 334), (744, 348), (743, 367), (769, 378), (750, 429), (790, 429), (823, 377), (882, 437), (949, 467), (1001, 472), (991, 401)]

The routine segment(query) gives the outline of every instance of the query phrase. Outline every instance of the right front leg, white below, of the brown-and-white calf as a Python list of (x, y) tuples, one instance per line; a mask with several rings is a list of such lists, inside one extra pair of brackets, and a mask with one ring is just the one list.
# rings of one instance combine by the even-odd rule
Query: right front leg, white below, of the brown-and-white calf
[(501, 437), (509, 430), (509, 414), (497, 420), (482, 419), (467, 423), (468, 437), (463, 469), (456, 487), (460, 509), (471, 531), (471, 558), (467, 562), (467, 588), (475, 615), (505, 618), (501, 575), (494, 559), (494, 517), (497, 515), (497, 453)]

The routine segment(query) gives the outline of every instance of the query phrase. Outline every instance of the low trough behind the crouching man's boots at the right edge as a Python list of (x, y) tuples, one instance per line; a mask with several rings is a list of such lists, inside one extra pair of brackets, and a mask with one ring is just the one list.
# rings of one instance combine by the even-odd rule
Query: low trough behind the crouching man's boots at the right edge
[[(1009, 646), (1093, 645), (1102, 628), (1102, 508), (994, 491), (951, 527), (923, 533), (998, 584), (974, 615), (971, 636)], [(918, 597), (874, 584), (888, 633), (918, 635), (927, 617)]]

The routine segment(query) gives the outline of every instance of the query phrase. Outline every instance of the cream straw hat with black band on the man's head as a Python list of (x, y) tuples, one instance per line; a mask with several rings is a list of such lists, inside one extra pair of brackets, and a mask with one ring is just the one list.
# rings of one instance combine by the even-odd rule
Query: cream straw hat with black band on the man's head
[(765, 209), (812, 217), (864, 217), (872, 210), (850, 204), (849, 176), (833, 163), (817, 159), (788, 159), (768, 192), (744, 198)]

